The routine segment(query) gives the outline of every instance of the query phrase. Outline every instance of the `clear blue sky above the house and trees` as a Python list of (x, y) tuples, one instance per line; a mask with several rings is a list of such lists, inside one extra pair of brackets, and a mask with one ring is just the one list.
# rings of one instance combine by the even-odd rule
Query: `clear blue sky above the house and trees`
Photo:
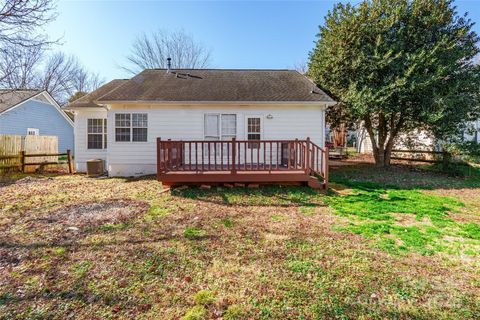
[[(58, 18), (46, 31), (52, 39), (62, 37), (59, 50), (75, 54), (107, 81), (129, 77), (119, 65), (135, 37), (158, 29), (191, 34), (211, 49), (215, 68), (292, 68), (307, 60), (335, 2), (60, 1)], [(480, 0), (456, 4), (480, 23)], [(475, 30), (480, 33), (480, 26)]]

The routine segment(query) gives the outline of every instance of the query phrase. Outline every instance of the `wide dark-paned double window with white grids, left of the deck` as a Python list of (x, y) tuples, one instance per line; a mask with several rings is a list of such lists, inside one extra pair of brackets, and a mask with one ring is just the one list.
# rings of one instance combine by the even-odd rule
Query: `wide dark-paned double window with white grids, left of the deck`
[(148, 114), (116, 113), (115, 141), (145, 142), (148, 140)]

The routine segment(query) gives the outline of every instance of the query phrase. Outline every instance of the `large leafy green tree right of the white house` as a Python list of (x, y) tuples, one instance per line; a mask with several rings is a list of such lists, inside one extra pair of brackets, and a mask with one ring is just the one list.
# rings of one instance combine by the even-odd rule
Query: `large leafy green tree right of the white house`
[(420, 128), (446, 139), (479, 116), (472, 25), (452, 0), (336, 4), (310, 53), (309, 75), (341, 103), (330, 118), (363, 122), (375, 162), (388, 166), (399, 133)]

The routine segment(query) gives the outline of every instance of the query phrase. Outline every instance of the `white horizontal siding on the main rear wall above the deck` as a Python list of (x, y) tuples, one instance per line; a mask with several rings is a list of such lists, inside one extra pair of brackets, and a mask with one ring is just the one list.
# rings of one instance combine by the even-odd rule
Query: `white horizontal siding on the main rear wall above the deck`
[[(148, 116), (148, 136), (143, 143), (115, 141), (115, 127), (109, 126), (108, 169), (113, 176), (154, 174), (156, 172), (156, 138), (162, 140), (204, 140), (208, 137), (230, 140), (233, 128), (225, 120), (223, 133), (206, 130), (205, 116), (235, 115), (236, 138), (246, 140), (248, 116), (261, 117), (262, 139), (305, 139), (323, 146), (324, 108), (311, 105), (112, 105), (108, 111), (109, 123), (115, 122), (118, 113), (144, 113)], [(267, 119), (267, 115), (272, 115)], [(227, 117), (226, 119), (228, 119)], [(213, 119), (213, 118), (212, 118)], [(215, 123), (215, 120), (212, 120)], [(212, 135), (212, 136), (207, 136)], [(230, 135), (232, 134), (232, 135)], [(216, 139), (211, 139), (216, 140)]]

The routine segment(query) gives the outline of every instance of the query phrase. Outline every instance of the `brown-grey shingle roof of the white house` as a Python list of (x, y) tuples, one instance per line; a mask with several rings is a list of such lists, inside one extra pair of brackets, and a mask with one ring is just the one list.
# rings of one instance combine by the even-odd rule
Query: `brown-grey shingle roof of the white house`
[(90, 96), (95, 96), (93, 101), (96, 103), (333, 102), (307, 77), (293, 70), (176, 69), (168, 73), (165, 69), (147, 69), (128, 81), (124, 80), (113, 90), (104, 87), (97, 90), (104, 92), (103, 95), (94, 91)]

